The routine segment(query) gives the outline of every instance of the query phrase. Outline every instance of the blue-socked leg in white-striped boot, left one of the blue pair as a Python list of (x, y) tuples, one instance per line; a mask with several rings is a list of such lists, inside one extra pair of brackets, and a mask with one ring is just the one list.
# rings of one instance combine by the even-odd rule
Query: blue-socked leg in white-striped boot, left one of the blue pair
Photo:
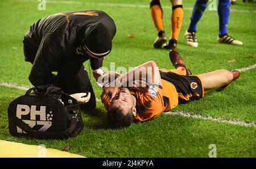
[(196, 26), (204, 14), (204, 11), (207, 7), (207, 2), (208, 0), (196, 0), (196, 3), (193, 7), (190, 24), (188, 30), (184, 34), (185, 39), (187, 40), (187, 44), (189, 46), (198, 47), (196, 39)]

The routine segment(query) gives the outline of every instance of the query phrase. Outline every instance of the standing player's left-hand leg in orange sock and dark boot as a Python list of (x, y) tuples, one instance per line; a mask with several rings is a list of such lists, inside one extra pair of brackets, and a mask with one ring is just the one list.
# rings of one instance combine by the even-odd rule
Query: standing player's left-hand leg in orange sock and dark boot
[(164, 33), (163, 26), (163, 9), (159, 0), (151, 0), (150, 14), (156, 31), (158, 31), (158, 36), (156, 37), (154, 48), (162, 48), (166, 44), (166, 34)]

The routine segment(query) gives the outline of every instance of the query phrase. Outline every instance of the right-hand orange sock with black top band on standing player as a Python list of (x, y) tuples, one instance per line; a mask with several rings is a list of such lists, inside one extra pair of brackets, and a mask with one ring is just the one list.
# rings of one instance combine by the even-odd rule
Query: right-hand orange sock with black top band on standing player
[(182, 5), (176, 5), (172, 7), (172, 30), (171, 30), (171, 39), (178, 39), (181, 25), (183, 20), (183, 8)]

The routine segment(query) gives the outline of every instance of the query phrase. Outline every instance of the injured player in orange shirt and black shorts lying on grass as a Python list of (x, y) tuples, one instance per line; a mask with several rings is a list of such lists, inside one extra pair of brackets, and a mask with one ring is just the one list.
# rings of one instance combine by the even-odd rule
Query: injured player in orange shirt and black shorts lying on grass
[(179, 53), (171, 50), (169, 55), (176, 70), (159, 70), (154, 61), (149, 61), (123, 75), (105, 72), (98, 80), (104, 87), (101, 100), (111, 128), (155, 119), (177, 104), (203, 98), (210, 91), (224, 90), (240, 77), (239, 71), (224, 69), (192, 75)]

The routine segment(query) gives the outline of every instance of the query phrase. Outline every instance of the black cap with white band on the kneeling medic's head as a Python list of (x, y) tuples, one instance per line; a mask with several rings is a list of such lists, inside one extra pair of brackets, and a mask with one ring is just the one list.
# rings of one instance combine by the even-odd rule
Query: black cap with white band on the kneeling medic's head
[(108, 29), (101, 22), (92, 24), (85, 30), (85, 48), (95, 57), (104, 57), (112, 49), (112, 39)]

